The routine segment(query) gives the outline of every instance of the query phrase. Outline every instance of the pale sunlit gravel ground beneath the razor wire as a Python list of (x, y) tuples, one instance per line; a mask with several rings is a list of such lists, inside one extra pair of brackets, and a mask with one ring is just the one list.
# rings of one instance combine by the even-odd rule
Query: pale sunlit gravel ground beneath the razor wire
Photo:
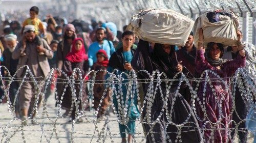
[[(74, 124), (74, 134), (72, 136), (72, 123), (68, 123), (70, 121), (68, 118), (58, 119), (55, 124), (56, 132), (53, 131), (57, 115), (53, 96), (50, 96), (46, 107), (48, 118), (46, 118), (46, 115), (44, 115), (44, 118), (39, 118), (42, 113), (42, 108), (40, 108), (40, 115), (35, 119), (36, 125), (33, 125), (29, 120), (27, 122), (28, 125), (24, 126), (22, 131), (22, 122), (11, 121), (13, 117), (8, 111), (7, 103), (0, 104), (1, 142), (5, 142), (7, 139), (10, 142), (48, 142), (49, 140), (50, 142), (72, 142), (72, 138), (74, 142), (97, 142), (97, 140), (98, 142), (111, 142), (111, 140), (121, 142), (117, 118), (113, 113), (109, 116), (108, 128), (110, 132), (104, 126), (104, 120), (97, 123), (93, 122), (93, 112), (87, 111), (88, 118), (82, 118), (82, 123)], [(138, 125), (138, 122), (136, 125)], [(96, 126), (98, 127), (98, 132), (96, 131)], [(98, 135), (99, 132), (102, 132), (101, 136)], [(141, 125), (138, 125), (136, 133), (136, 142), (145, 142)], [(25, 138), (23, 138), (23, 134)], [(253, 135), (249, 134), (247, 142), (253, 142), (252, 139)], [(238, 142), (237, 139), (234, 142)]]

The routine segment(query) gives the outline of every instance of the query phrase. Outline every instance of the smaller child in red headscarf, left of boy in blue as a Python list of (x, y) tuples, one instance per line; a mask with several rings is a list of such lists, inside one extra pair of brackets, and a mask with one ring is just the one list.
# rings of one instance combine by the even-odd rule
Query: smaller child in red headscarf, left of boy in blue
[[(106, 70), (106, 68), (108, 67), (109, 64), (109, 60), (108, 60), (108, 54), (106, 54), (105, 50), (100, 49), (97, 53), (97, 62), (93, 64), (92, 66), (92, 70), (94, 71), (98, 71), (98, 70)], [(106, 72), (104, 71), (98, 71), (95, 77), (95, 84), (94, 84), (94, 109), (97, 110), (101, 97), (104, 96), (104, 99), (102, 101), (102, 103), (100, 104), (100, 107), (98, 109), (98, 115), (97, 118), (101, 117), (101, 115), (103, 115), (104, 111), (106, 110), (106, 108), (109, 105), (109, 100), (110, 97), (109, 95), (103, 95), (104, 92), (104, 82), (103, 80), (105, 79), (105, 74)], [(91, 75), (93, 76), (93, 74)]]

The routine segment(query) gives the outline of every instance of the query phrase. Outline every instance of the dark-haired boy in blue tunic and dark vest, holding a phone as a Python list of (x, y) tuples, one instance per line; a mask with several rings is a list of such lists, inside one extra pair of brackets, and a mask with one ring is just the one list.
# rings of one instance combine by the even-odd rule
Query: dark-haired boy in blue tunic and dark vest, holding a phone
[[(131, 61), (133, 59), (134, 51), (135, 49), (132, 47), (133, 42), (134, 42), (134, 32), (132, 31), (125, 31), (122, 34), (122, 48), (117, 49), (116, 52), (114, 52), (111, 55), (111, 58), (109, 60), (109, 65), (108, 65), (108, 72), (112, 73), (114, 69), (118, 69), (118, 71), (115, 71), (114, 74), (116, 75), (121, 75), (121, 72), (125, 72), (129, 74), (129, 72), (133, 69), (131, 66)], [(106, 79), (108, 79), (109, 74), (106, 74)], [(137, 94), (134, 95), (134, 106), (132, 105), (132, 99), (129, 97), (129, 100), (124, 103), (124, 104), (118, 104), (121, 99), (118, 98), (123, 98), (123, 101), (126, 100), (126, 96), (131, 96), (129, 92), (127, 92), (126, 84), (127, 82), (127, 75), (122, 74), (121, 76), (124, 80), (121, 81), (120, 85), (122, 88), (122, 97), (118, 97), (118, 95), (113, 94), (113, 103), (115, 106), (115, 109), (117, 111), (117, 115), (120, 117), (122, 114), (120, 113), (120, 109), (123, 108), (124, 105), (128, 105), (128, 110), (127, 112), (130, 112), (129, 116), (129, 122), (126, 125), (122, 125), (119, 123), (119, 131), (120, 135), (122, 138), (121, 142), (126, 142), (126, 132), (128, 133), (128, 142), (132, 142), (133, 135), (135, 134), (135, 121), (139, 117), (139, 109), (137, 107)], [(116, 89), (120, 88), (120, 85), (118, 83), (115, 83)], [(120, 102), (119, 102), (120, 103)], [(122, 106), (121, 108), (119, 106)]]

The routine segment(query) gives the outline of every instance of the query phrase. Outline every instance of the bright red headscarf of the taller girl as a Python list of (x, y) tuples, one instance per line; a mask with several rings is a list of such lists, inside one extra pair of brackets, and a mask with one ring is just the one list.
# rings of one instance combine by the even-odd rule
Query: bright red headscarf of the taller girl
[[(80, 40), (82, 42), (82, 47), (79, 51), (77, 51), (75, 49), (76, 41), (78, 41), (78, 40)], [(83, 46), (82, 38), (74, 39), (74, 41), (72, 42), (71, 52), (69, 52), (66, 55), (66, 59), (72, 63), (78, 63), (78, 62), (82, 62), (84, 60), (88, 60), (88, 56), (86, 55), (86, 50), (84, 49), (84, 46)]]

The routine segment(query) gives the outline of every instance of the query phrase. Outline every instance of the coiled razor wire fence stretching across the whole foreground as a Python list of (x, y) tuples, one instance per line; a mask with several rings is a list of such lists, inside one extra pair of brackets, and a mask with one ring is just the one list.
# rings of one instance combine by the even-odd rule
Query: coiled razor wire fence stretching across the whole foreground
[[(15, 75), (21, 69), (24, 70), (22, 78), (17, 78)], [(245, 103), (247, 109), (252, 108), (252, 112), (256, 112), (255, 100), (256, 100), (256, 87), (255, 87), (255, 75), (250, 75), (245, 69), (239, 68), (233, 77), (221, 78), (217, 73), (210, 70), (205, 70), (199, 78), (187, 78), (182, 72), (177, 73), (174, 78), (169, 79), (165, 73), (159, 71), (153, 71), (149, 73), (147, 71), (130, 71), (129, 73), (118, 72), (114, 70), (112, 73), (104, 70), (91, 71), (86, 76), (82, 76), (79, 69), (74, 69), (72, 75), (68, 76), (63, 71), (58, 69), (52, 69), (46, 77), (34, 77), (32, 71), (28, 66), (23, 66), (17, 70), (17, 72), (11, 76), (9, 71), (1, 66), (1, 70), (7, 71), (7, 76), (0, 75), (0, 79), (3, 85), (4, 96), (0, 99), (0, 103), (7, 100), (7, 104), (2, 104), (2, 107), (6, 107), (8, 112), (5, 111), (5, 115), (0, 118), (0, 136), (1, 142), (117, 142), (120, 141), (120, 132), (118, 129), (118, 123), (125, 125), (131, 121), (131, 111), (135, 106), (139, 108), (135, 109), (136, 126), (135, 133), (133, 134), (133, 142), (145, 142), (147, 137), (152, 137), (153, 128), (161, 123), (161, 118), (166, 117), (166, 128), (164, 130), (165, 141), (172, 141), (170, 136), (175, 136), (174, 142), (183, 142), (182, 133), (198, 130), (200, 132), (201, 142), (206, 142), (204, 132), (211, 131), (209, 139), (214, 139), (214, 132), (217, 130), (226, 131), (228, 133), (228, 140), (233, 141), (234, 137), (231, 136), (231, 132), (238, 133), (249, 132), (247, 129), (240, 128), (240, 124), (248, 122), (249, 119), (240, 117), (237, 113), (237, 107), (235, 104), (236, 90), (239, 90), (240, 95)], [(62, 73), (61, 78), (56, 79), (56, 71)], [(104, 73), (108, 78), (104, 80), (97, 80), (98, 73)], [(139, 78), (140, 74), (143, 74), (145, 79)], [(19, 82), (14, 102), (11, 103), (9, 97), (9, 91), (12, 82)], [(19, 91), (22, 90), (25, 82), (31, 82), (34, 85), (36, 94), (35, 102), (32, 105), (32, 111), (30, 112), (26, 121), (33, 121), (33, 124), (25, 126), (20, 118), (16, 117), (15, 107), (18, 106), (18, 99), (20, 97)], [(63, 84), (61, 93), (58, 93), (58, 86), (54, 87), (54, 97), (46, 100), (47, 90), (51, 84)], [(94, 87), (97, 84), (103, 85), (103, 93), (99, 101), (97, 108), (94, 108)], [(203, 89), (200, 88), (201, 85)], [(230, 114), (224, 115), (222, 113), (222, 105), (225, 100), (225, 96), (222, 95), (220, 99), (217, 99), (215, 91), (215, 85), (218, 84), (220, 90), (223, 93), (228, 93), (231, 96), (232, 108)], [(147, 88), (145, 88), (145, 85)], [(186, 85), (190, 92), (190, 112), (185, 120), (176, 123), (173, 121), (173, 112), (175, 112), (175, 106), (178, 102), (178, 93), (183, 90), (182, 86)], [(87, 88), (87, 98), (83, 99), (84, 87)], [(123, 88), (125, 87), (125, 88)], [(142, 88), (143, 87), (143, 88)], [(175, 88), (171, 94), (170, 90)], [(64, 96), (67, 96), (65, 92), (67, 89), (71, 91), (72, 100), (70, 101), (70, 111), (67, 115), (63, 114), (62, 101)], [(126, 91), (123, 91), (126, 89)], [(144, 89), (144, 90), (141, 90)], [(200, 97), (198, 95), (199, 90), (203, 90), (203, 94)], [(206, 97), (207, 92), (212, 92), (216, 96), (216, 110), (219, 110), (220, 116), (215, 122), (211, 122), (207, 116), (206, 109)], [(126, 94), (124, 98), (124, 92)], [(137, 95), (137, 96), (136, 96)], [(169, 95), (172, 99), (169, 99)], [(104, 110), (102, 117), (97, 118), (101, 104), (107, 96), (110, 97), (109, 104)], [(156, 120), (152, 119), (151, 111), (156, 108), (154, 100), (156, 96), (159, 96), (162, 104), (160, 105), (159, 116)], [(113, 98), (115, 97), (115, 98)], [(55, 99), (55, 100), (54, 100)], [(116, 101), (114, 101), (116, 100)], [(56, 105), (55, 105), (56, 101)], [(91, 102), (90, 102), (91, 101)], [(113, 103), (117, 102), (117, 106)], [(92, 107), (88, 111), (88, 106)], [(202, 110), (203, 116), (199, 116), (198, 108)], [(115, 115), (109, 116), (108, 111), (113, 109)], [(72, 115), (72, 111), (75, 111), (75, 120), (71, 120), (69, 117)], [(33, 118), (33, 114), (36, 114), (36, 118)], [(239, 123), (230, 120), (228, 122), (229, 128), (221, 128), (223, 119), (232, 119), (232, 115), (237, 114), (240, 119)], [(196, 128), (196, 123), (190, 122), (191, 116), (195, 115), (198, 122), (202, 122), (203, 125)], [(79, 124), (78, 120), (82, 119)], [(251, 122), (255, 122), (256, 119), (251, 118)], [(161, 123), (162, 124), (162, 123)], [(231, 125), (235, 127), (231, 127)], [(150, 127), (149, 131), (143, 130), (144, 125)], [(175, 132), (167, 130), (168, 126), (176, 127)], [(210, 127), (210, 128), (209, 128)], [(220, 127), (220, 128), (217, 128)], [(183, 130), (183, 129), (190, 130)], [(250, 129), (256, 131), (256, 129)], [(32, 136), (30, 136), (32, 135)], [(18, 138), (18, 140), (17, 140)], [(66, 140), (63, 140), (65, 138)], [(31, 141), (35, 140), (36, 141)], [(155, 140), (153, 139), (153, 142)], [(239, 138), (238, 138), (239, 141)]]

